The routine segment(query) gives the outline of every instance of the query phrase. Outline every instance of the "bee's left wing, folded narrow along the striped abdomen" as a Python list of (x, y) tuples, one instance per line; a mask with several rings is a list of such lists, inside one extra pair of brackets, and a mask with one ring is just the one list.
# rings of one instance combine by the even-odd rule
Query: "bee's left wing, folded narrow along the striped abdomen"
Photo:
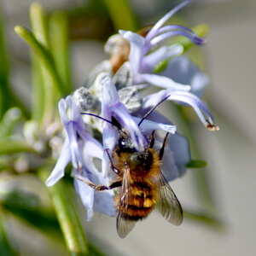
[(129, 205), (129, 191), (130, 191), (130, 170), (125, 168), (122, 188), (120, 192), (120, 199), (119, 199), (119, 208), (117, 211), (117, 218), (116, 218), (116, 229), (118, 234), (121, 238), (125, 238), (128, 233), (133, 229), (136, 224), (136, 221), (123, 218), (123, 214), (120, 208), (125, 210)]

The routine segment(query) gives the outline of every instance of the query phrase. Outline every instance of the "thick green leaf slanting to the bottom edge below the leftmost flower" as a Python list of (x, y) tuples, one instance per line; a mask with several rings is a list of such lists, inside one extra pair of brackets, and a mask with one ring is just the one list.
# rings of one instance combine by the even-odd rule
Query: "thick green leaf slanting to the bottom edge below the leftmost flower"
[[(49, 176), (49, 171), (51, 170), (44, 168), (38, 172), (43, 182), (45, 182), (46, 178)], [(90, 255), (90, 249), (84, 236), (84, 230), (79, 222), (73, 201), (67, 194), (68, 189), (65, 185), (63, 180), (61, 180), (47, 189), (49, 190), (49, 195), (51, 195), (67, 249), (72, 255)]]

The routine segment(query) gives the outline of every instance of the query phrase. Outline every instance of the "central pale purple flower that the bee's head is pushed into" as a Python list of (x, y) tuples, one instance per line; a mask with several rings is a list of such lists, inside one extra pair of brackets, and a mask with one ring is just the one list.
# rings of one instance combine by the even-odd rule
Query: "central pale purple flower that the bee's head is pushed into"
[[(186, 171), (186, 165), (191, 160), (188, 140), (175, 132), (176, 127), (172, 125), (169, 120), (164, 119), (160, 113), (157, 113), (156, 111), (150, 113), (150, 120), (144, 119), (141, 125), (138, 127), (141, 118), (132, 116), (131, 113), (129, 113), (125, 108), (125, 105), (119, 102), (118, 92), (110, 77), (106, 75), (106, 77), (102, 79), (102, 82), (104, 84), (102, 96), (102, 116), (108, 120), (111, 119), (112, 116), (118, 119), (120, 125), (125, 127), (127, 131), (129, 131), (130, 136), (134, 138), (132, 139), (132, 142), (137, 150), (143, 150), (148, 146), (148, 139), (150, 139), (152, 131), (161, 130), (169, 132), (170, 135), (166, 143), (165, 154), (162, 160), (163, 165), (161, 169), (168, 181), (183, 175), (183, 173)], [(153, 119), (152, 116), (154, 116)], [(118, 140), (119, 131), (114, 125), (109, 123), (105, 123), (103, 127), (102, 138), (104, 148), (109, 148), (110, 151), (112, 151)], [(148, 137), (148, 139), (146, 139), (145, 136)], [(142, 148), (139, 147), (139, 140), (143, 142)], [(155, 147), (160, 149), (162, 141), (163, 138), (156, 136)], [(109, 159), (108, 154), (105, 154), (104, 160), (102, 161), (103, 175), (107, 175), (108, 169)]]

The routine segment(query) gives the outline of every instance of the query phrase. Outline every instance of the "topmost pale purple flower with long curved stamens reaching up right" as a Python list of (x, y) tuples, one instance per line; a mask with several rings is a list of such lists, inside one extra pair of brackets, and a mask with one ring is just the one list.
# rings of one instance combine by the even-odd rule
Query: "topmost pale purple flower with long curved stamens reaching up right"
[[(185, 26), (163, 26), (163, 24), (177, 10), (182, 9), (184, 5), (190, 1), (180, 3), (176, 8), (172, 9), (164, 17), (162, 17), (143, 38), (137, 33), (130, 31), (119, 31), (126, 40), (130, 41), (131, 49), (128, 63), (124, 65), (129, 68), (133, 84), (154, 84), (166, 89), (172, 90), (190, 90), (191, 84), (183, 84), (172, 79), (169, 73), (154, 73), (154, 68), (160, 61), (167, 61), (174, 55), (180, 55), (183, 52), (183, 47), (179, 44), (170, 46), (162, 46), (159, 49), (154, 49), (166, 38), (172, 36), (184, 36), (189, 38), (194, 44), (204, 44), (205, 39), (199, 38), (195, 32), (192, 32)], [(150, 52), (154, 49), (153, 52)], [(168, 71), (168, 70), (167, 70)]]

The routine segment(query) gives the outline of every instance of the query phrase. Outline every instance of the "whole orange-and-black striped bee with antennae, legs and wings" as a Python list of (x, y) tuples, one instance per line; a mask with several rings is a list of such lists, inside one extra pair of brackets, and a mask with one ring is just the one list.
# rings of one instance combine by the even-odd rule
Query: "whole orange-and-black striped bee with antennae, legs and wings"
[[(143, 119), (154, 108), (149, 110)], [(96, 116), (90, 113), (85, 114)], [(138, 126), (142, 124), (143, 119), (141, 119)], [(103, 120), (116, 126), (119, 132), (119, 138), (112, 154), (109, 154), (109, 150), (105, 149), (110, 167), (117, 177), (109, 186), (96, 185), (88, 181), (86, 183), (97, 191), (118, 189), (115, 196), (115, 207), (117, 211), (116, 228), (119, 236), (125, 238), (137, 221), (147, 218), (156, 206), (160, 208), (161, 215), (168, 222), (175, 225), (182, 224), (183, 209), (160, 170), (169, 133), (166, 133), (160, 150), (157, 150), (154, 148), (153, 131), (150, 140), (148, 140), (148, 145), (140, 151), (135, 148), (129, 131), (121, 127), (117, 119), (112, 117), (111, 121)]]

